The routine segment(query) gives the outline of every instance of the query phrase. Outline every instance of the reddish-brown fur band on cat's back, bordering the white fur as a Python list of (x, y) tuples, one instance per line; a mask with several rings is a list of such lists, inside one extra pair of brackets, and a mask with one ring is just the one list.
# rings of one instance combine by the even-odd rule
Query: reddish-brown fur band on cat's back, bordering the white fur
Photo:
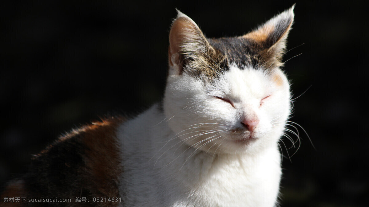
[[(86, 146), (86, 189), (93, 197), (120, 197), (118, 192), (121, 167), (120, 148), (116, 137), (117, 122), (96, 122), (83, 128), (82, 143)], [(117, 203), (101, 203), (113, 206)]]

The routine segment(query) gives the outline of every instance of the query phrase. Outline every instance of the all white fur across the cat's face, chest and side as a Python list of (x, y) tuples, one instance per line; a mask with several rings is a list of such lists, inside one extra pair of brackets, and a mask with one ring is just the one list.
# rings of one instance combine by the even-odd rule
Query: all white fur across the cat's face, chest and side
[[(273, 73), (235, 65), (212, 86), (170, 73), (164, 113), (154, 105), (118, 130), (125, 205), (275, 206), (277, 141), (290, 113), (289, 83), (282, 71), (275, 73), (282, 85), (273, 82)], [(232, 130), (242, 129), (242, 118), (253, 113), (260, 120), (255, 140), (236, 143), (249, 134)]]

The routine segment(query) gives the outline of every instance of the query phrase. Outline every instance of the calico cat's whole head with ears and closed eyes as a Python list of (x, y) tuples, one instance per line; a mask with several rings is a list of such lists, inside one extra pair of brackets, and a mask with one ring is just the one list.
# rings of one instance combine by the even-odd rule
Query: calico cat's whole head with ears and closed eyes
[(280, 67), (293, 18), (292, 7), (243, 36), (207, 39), (178, 11), (163, 108), (179, 140), (212, 153), (277, 143), (291, 111)]

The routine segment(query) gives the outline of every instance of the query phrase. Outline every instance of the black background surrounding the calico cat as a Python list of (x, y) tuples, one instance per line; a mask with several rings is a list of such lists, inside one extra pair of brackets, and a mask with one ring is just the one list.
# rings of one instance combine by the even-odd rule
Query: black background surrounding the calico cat
[[(1, 3), (1, 187), (65, 131), (160, 100), (175, 8), (222, 37), (243, 35), (296, 1), (52, 2)], [(291, 161), (282, 147), (283, 207), (368, 203), (367, 9), (359, 1), (296, 4), (287, 47), (304, 45), (284, 60), (303, 54), (284, 70), (294, 97), (311, 87), (290, 120), (316, 150), (302, 129)]]

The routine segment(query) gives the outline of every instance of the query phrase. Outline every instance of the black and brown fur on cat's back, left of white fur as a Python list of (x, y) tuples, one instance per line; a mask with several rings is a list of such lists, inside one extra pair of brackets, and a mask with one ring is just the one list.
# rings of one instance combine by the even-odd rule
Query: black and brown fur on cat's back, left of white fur
[(111, 117), (59, 137), (32, 158), (29, 172), (8, 183), (1, 197), (27, 198), (20, 206), (28, 206), (28, 198), (41, 197), (71, 199), (70, 204), (77, 206), (88, 206), (75, 203), (77, 197), (89, 198), (92, 206), (118, 205), (94, 203), (92, 198), (120, 197), (119, 176), (123, 168), (116, 131), (123, 122), (122, 117)]

